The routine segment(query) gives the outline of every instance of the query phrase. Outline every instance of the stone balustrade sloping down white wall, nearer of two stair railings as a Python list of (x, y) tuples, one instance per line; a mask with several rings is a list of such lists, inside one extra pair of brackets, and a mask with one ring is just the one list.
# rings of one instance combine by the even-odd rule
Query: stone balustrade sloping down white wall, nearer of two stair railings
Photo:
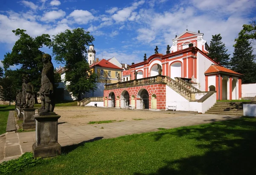
[(191, 100), (191, 93), (192, 91), (186, 88), (185, 86), (181, 85), (180, 83), (176, 82), (174, 79), (172, 79), (169, 76), (166, 76), (167, 78), (167, 85), (171, 86), (174, 90), (176, 89), (177, 93), (180, 93), (180, 95), (184, 96), (187, 100)]

